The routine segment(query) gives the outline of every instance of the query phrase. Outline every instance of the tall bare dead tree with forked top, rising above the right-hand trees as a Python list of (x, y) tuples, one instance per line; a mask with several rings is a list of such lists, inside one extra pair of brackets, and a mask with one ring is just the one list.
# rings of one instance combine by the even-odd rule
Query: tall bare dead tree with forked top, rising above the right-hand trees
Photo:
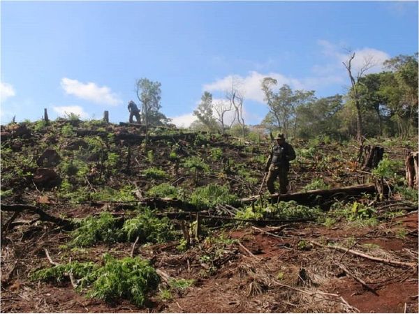
[(365, 75), (365, 72), (375, 66), (373, 57), (367, 57), (364, 59), (364, 63), (362, 64), (361, 68), (358, 70), (358, 73), (353, 75), (353, 68), (352, 68), (352, 61), (355, 58), (355, 52), (353, 52), (348, 61), (342, 62), (348, 70), (349, 79), (351, 80), (351, 87), (352, 87), (352, 95), (353, 100), (355, 102), (356, 112), (357, 112), (357, 119), (356, 119), (356, 139), (361, 142), (362, 141), (362, 113), (361, 113), (361, 103), (360, 103), (360, 91), (358, 90), (358, 82), (360, 78)]

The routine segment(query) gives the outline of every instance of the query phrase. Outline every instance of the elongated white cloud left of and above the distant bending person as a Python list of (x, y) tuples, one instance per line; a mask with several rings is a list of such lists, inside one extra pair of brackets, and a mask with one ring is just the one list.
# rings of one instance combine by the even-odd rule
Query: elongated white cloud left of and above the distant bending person
[(118, 98), (117, 94), (112, 93), (109, 87), (98, 87), (93, 82), (83, 83), (63, 77), (61, 79), (61, 87), (66, 91), (66, 94), (90, 100), (94, 103), (103, 105), (119, 105), (122, 103), (122, 100)]

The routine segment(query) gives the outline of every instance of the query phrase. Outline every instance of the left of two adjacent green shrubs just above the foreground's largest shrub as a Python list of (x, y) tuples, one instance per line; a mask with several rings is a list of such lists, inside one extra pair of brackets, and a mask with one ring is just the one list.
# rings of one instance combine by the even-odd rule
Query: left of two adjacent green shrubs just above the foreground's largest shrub
[(97, 241), (112, 243), (122, 237), (121, 230), (117, 229), (117, 218), (103, 211), (99, 217), (87, 217), (80, 221), (80, 226), (71, 232), (73, 238), (70, 246), (91, 246)]

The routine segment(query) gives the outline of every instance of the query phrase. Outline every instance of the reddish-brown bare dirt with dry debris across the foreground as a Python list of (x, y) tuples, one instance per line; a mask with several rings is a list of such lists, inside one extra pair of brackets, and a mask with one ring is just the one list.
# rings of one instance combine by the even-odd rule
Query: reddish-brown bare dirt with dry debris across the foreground
[[(78, 216), (87, 209), (72, 213)], [(407, 230), (404, 238), (394, 235), (400, 227)], [(145, 308), (137, 308), (124, 300), (112, 305), (88, 299), (75, 292), (69, 281), (60, 285), (29, 281), (29, 270), (49, 264), (43, 248), (57, 262), (68, 260), (70, 256), (63, 256), (65, 253), (59, 250), (68, 235), (47, 225), (16, 231), (2, 246), (1, 312), (418, 312), (417, 269), (374, 262), (310, 243), (333, 241), (368, 255), (417, 260), (417, 213), (374, 227), (326, 228), (300, 223), (277, 232), (272, 227), (244, 226), (224, 231), (223, 237), (235, 241), (222, 247), (220, 259), (214, 260), (214, 271), (198, 258), (203, 252), (211, 255), (212, 244), (203, 243), (185, 253), (175, 249), (176, 243), (138, 248), (137, 255), (151, 260), (156, 268), (174, 278), (193, 278), (195, 283), (173, 294), (169, 301), (162, 301), (156, 294)], [(307, 245), (299, 248), (302, 240)], [(71, 255), (79, 260), (100, 260), (105, 252), (124, 257), (130, 251), (131, 244), (122, 243), (97, 245)], [(14, 260), (12, 256), (19, 258)], [(348, 276), (339, 265), (374, 291)]]

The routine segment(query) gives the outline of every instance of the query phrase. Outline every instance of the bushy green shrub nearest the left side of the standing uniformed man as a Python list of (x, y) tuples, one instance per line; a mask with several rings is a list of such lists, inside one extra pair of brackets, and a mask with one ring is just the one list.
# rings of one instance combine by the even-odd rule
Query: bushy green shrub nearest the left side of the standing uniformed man
[(216, 204), (234, 205), (238, 201), (235, 194), (231, 194), (227, 186), (219, 186), (217, 184), (208, 184), (200, 188), (196, 188), (191, 195), (191, 204), (198, 209), (207, 209), (214, 207)]

